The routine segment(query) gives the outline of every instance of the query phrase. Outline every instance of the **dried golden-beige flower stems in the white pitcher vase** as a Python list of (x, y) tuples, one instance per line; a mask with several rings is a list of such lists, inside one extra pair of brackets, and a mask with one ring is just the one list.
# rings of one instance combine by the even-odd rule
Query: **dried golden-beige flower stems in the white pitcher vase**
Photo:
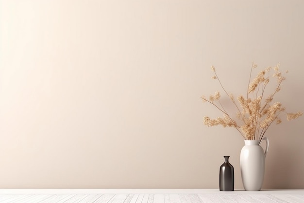
[[(249, 83), (247, 86), (247, 94), (245, 96), (239, 95), (237, 97), (237, 100), (239, 102), (238, 106), (233, 94), (228, 94), (228, 92), (222, 86), (215, 68), (212, 66), (211, 69), (215, 74), (212, 79), (218, 79), (221, 88), (230, 98), (232, 104), (236, 107), (236, 118), (242, 123), (242, 125), (238, 125), (236, 120), (234, 120), (232, 116), (230, 116), (225, 110), (220, 102), (219, 91), (215, 92), (214, 95), (210, 95), (209, 99), (207, 99), (205, 96), (202, 96), (202, 99), (203, 102), (208, 102), (214, 105), (218, 110), (223, 112), (224, 115), (222, 118), (219, 117), (216, 119), (211, 119), (208, 116), (204, 116), (204, 125), (208, 127), (218, 125), (222, 125), (223, 127), (233, 127), (238, 130), (238, 132), (245, 138), (245, 140), (261, 141), (265, 132), (273, 122), (276, 122), (277, 124), (280, 124), (282, 122), (278, 117), (280, 112), (286, 113), (287, 120), (297, 119), (303, 115), (302, 112), (287, 113), (285, 111), (285, 107), (283, 107), (280, 102), (272, 102), (273, 96), (280, 91), (281, 83), (283, 80), (285, 80), (285, 77), (279, 70), (279, 64), (277, 64), (275, 67), (268, 67), (259, 72), (257, 76), (251, 81), (253, 69), (256, 67), (257, 65), (253, 63), (250, 71)], [(266, 86), (270, 82), (270, 70), (274, 71), (272, 77), (276, 78), (277, 85), (274, 92), (272, 92), (267, 98), (263, 98)]]

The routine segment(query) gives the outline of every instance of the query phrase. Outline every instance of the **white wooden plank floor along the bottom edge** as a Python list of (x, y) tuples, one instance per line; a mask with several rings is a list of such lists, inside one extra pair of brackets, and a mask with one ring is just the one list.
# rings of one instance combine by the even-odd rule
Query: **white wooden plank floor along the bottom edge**
[(304, 203), (304, 194), (0, 194), (0, 203)]

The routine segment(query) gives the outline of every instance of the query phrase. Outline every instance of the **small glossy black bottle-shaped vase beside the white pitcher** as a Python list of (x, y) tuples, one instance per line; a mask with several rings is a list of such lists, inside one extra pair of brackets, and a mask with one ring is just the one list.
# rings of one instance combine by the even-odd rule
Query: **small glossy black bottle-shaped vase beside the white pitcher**
[(225, 162), (220, 166), (220, 191), (234, 191), (234, 168), (229, 163), (230, 156), (224, 156)]

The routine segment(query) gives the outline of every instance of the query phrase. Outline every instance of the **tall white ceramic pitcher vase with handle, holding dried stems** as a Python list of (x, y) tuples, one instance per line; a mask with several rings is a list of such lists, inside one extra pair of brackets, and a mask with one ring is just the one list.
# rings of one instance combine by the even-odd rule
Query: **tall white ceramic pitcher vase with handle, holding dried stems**
[[(266, 149), (260, 146), (259, 140), (245, 140), (245, 146), (240, 154), (241, 177), (244, 189), (247, 191), (259, 191), (262, 188), (265, 172), (265, 157), (269, 147), (266, 141)], [(261, 141), (262, 142), (262, 141)]]

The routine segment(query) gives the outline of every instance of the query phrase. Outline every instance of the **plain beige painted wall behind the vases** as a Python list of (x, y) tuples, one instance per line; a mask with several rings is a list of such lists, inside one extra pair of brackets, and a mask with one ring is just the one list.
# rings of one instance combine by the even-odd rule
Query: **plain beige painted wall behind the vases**
[[(201, 96), (280, 62), (304, 111), (303, 0), (1, 0), (0, 188), (242, 188), (236, 129)], [(255, 72), (256, 73), (256, 72)], [(273, 125), (263, 188), (304, 188), (301, 117)], [(264, 146), (264, 144), (263, 144)]]

